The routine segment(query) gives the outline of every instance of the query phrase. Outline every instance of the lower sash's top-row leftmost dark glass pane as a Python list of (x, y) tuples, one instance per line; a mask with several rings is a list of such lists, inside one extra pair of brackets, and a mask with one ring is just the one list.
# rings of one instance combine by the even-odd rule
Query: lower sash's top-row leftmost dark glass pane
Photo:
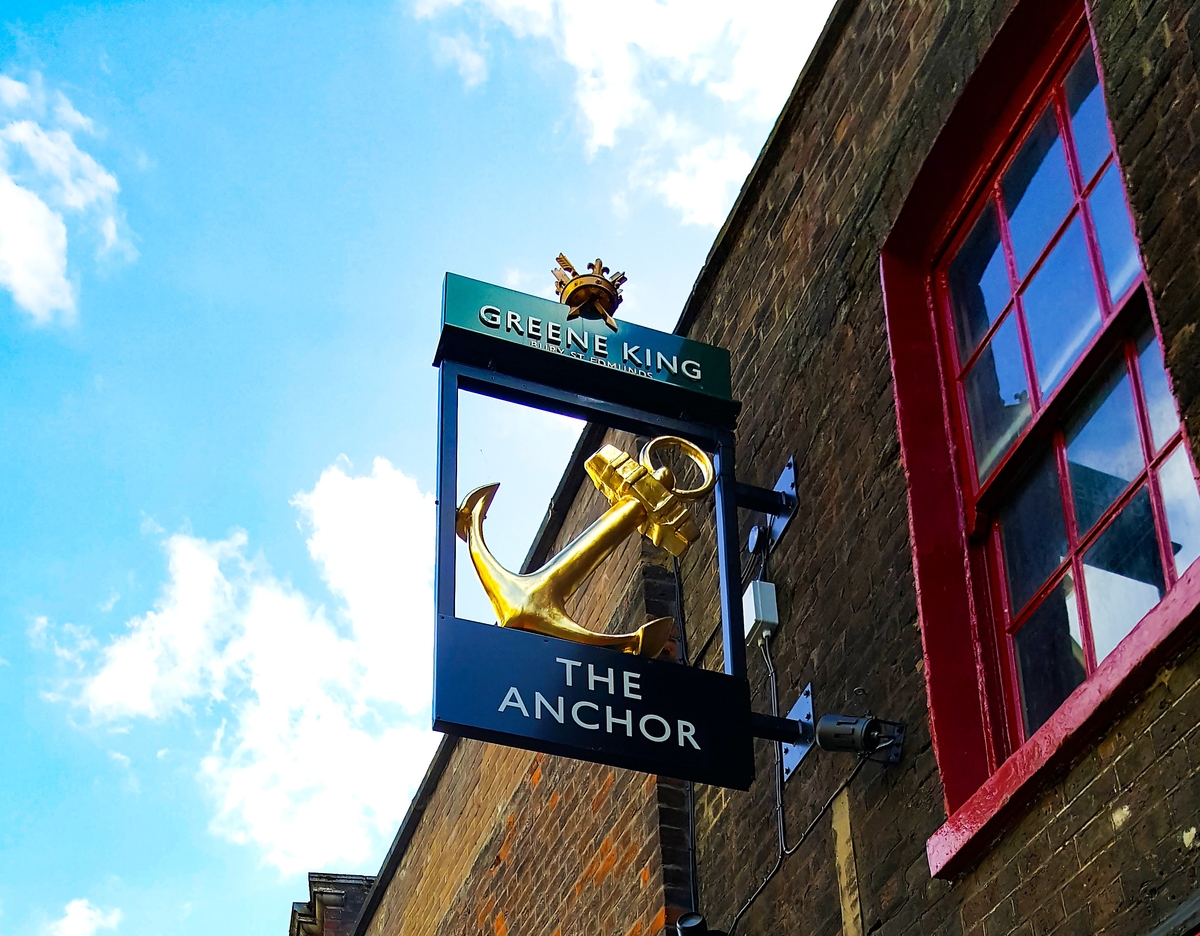
[(1025, 487), (1003, 509), (1000, 532), (1015, 616), (1067, 556), (1067, 526), (1054, 452), (1042, 460)]

